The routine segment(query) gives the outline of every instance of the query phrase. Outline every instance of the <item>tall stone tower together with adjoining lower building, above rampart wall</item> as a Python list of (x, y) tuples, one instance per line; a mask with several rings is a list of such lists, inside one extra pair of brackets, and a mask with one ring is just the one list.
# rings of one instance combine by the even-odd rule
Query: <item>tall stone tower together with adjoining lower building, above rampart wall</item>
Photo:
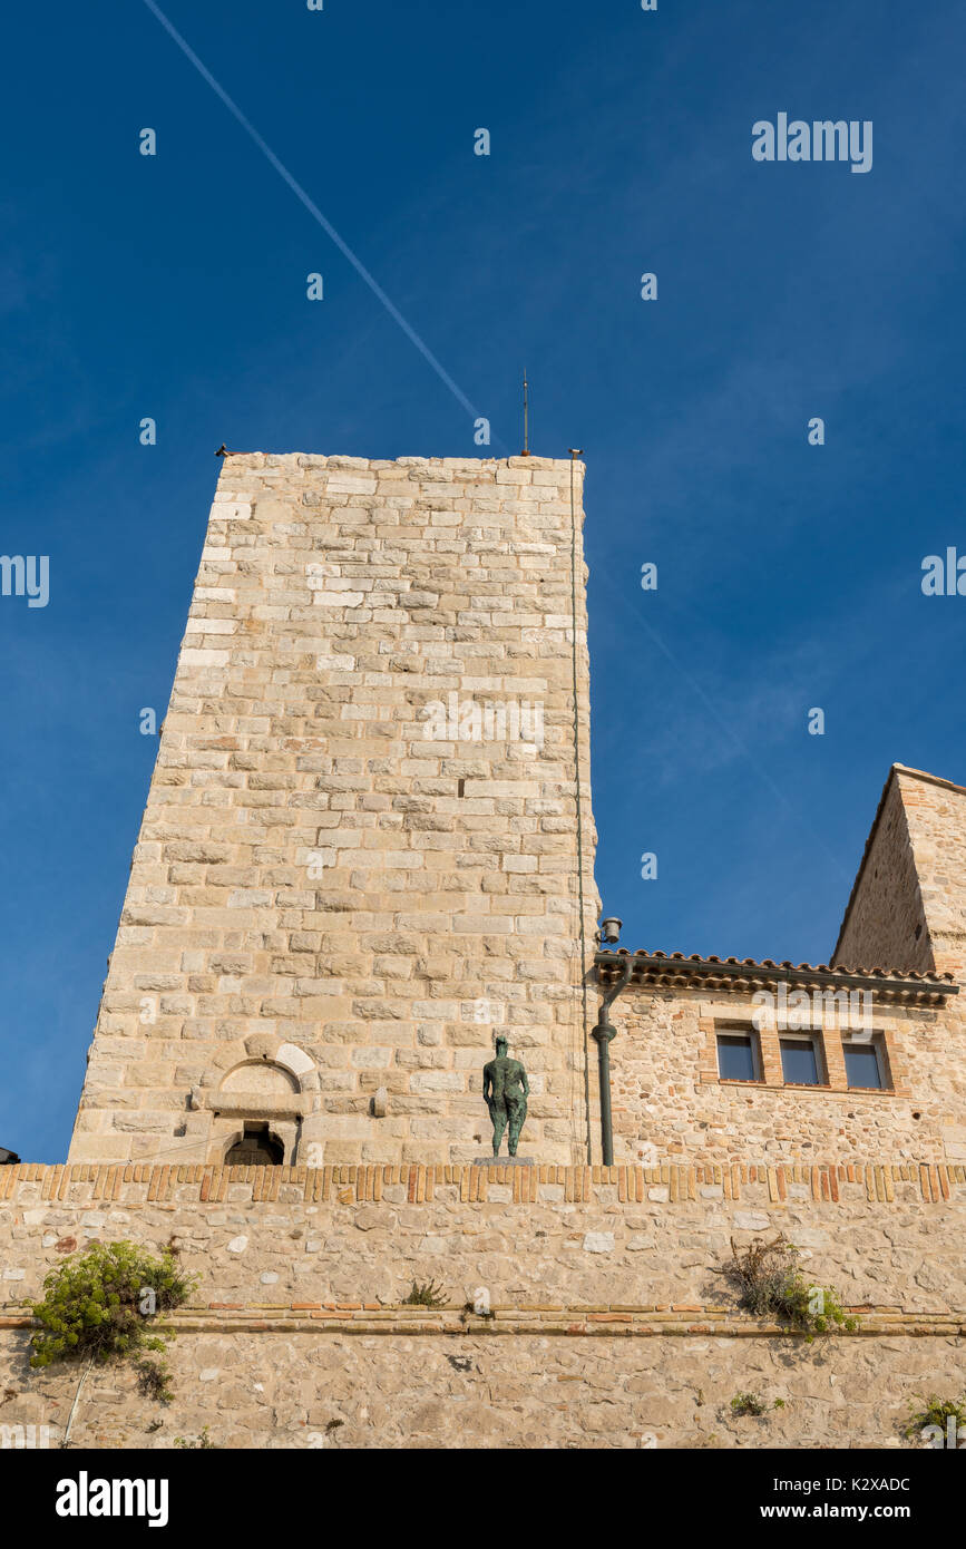
[[(71, 1162), (468, 1162), (500, 1029), (602, 1159), (582, 474), (224, 460)], [(896, 765), (831, 965), (596, 954), (616, 1160), (966, 1159), (961, 802)]]

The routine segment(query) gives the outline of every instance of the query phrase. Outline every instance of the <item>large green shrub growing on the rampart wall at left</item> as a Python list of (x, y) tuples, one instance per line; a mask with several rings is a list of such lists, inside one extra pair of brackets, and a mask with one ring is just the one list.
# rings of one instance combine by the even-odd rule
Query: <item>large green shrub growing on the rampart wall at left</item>
[(135, 1351), (163, 1351), (149, 1334), (158, 1314), (183, 1306), (195, 1287), (170, 1248), (152, 1258), (133, 1242), (94, 1242), (71, 1253), (43, 1281), (43, 1301), (31, 1306), (40, 1327), (33, 1334), (31, 1366), (59, 1360), (99, 1365)]

